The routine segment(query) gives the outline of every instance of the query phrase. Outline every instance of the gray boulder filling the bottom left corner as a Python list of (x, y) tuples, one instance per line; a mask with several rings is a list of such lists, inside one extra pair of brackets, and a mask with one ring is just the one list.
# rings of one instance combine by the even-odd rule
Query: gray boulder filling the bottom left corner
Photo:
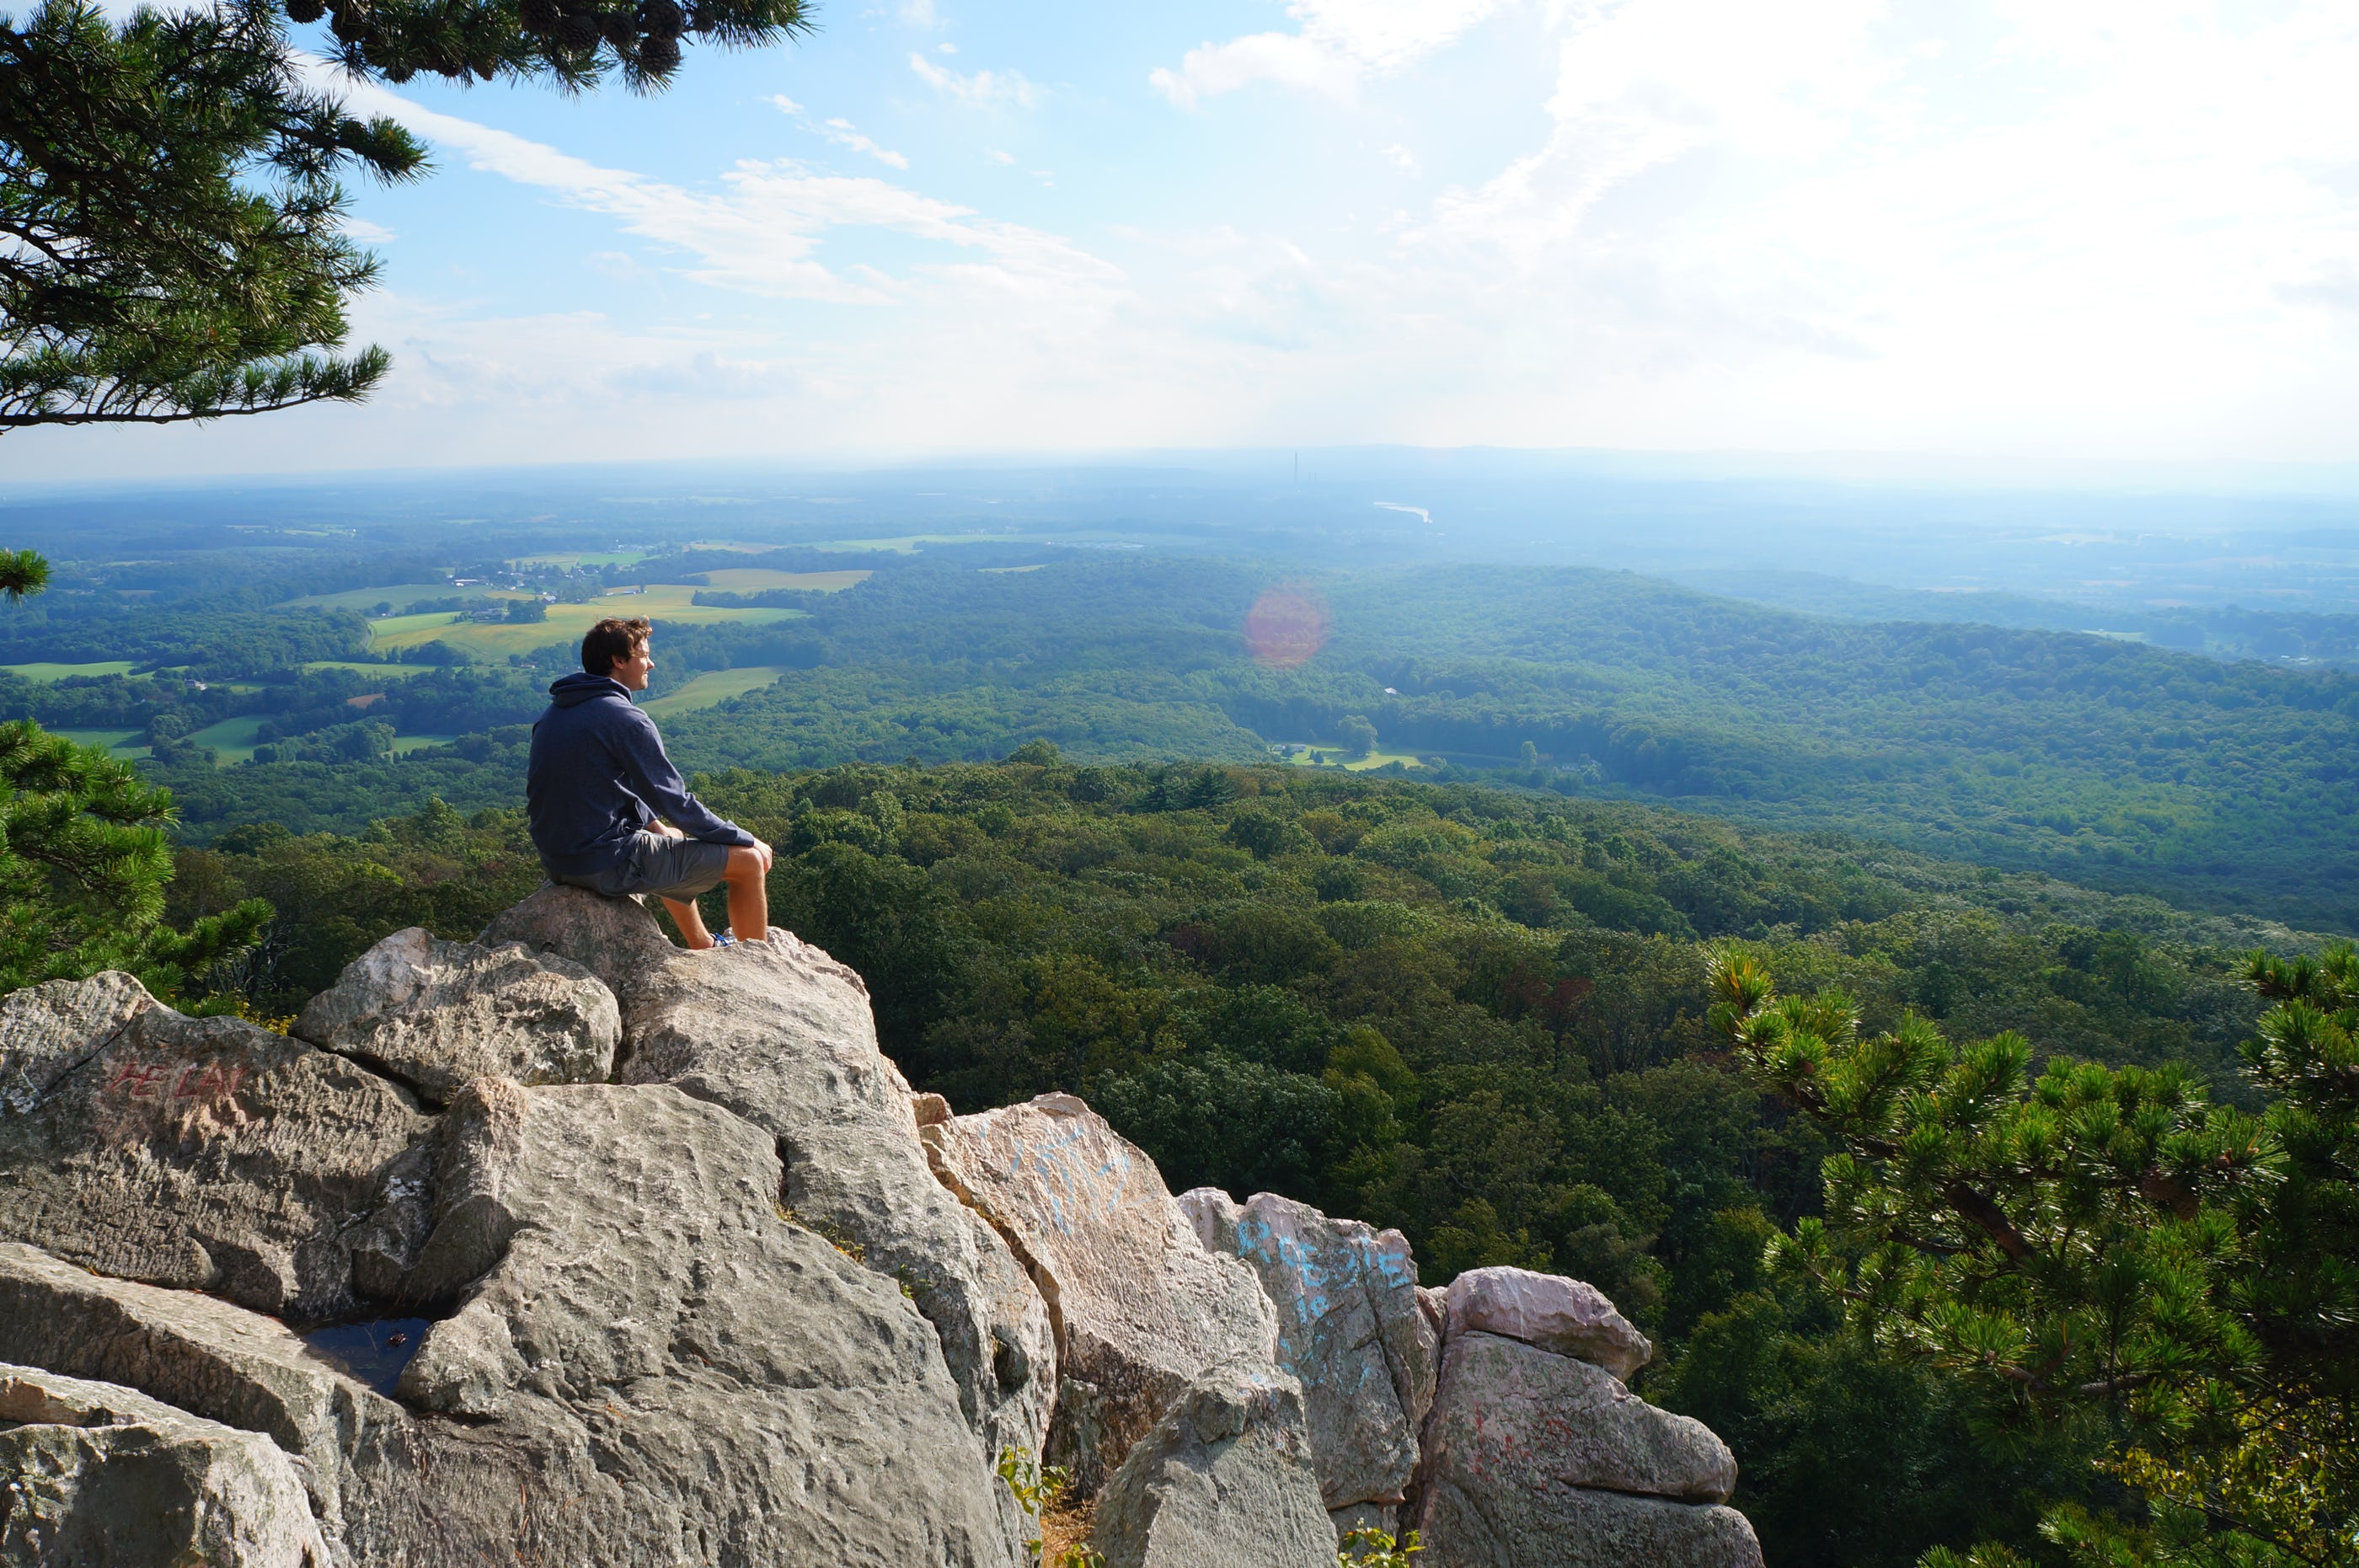
[(118, 1384), (0, 1363), (0, 1563), (333, 1563), (276, 1443)]

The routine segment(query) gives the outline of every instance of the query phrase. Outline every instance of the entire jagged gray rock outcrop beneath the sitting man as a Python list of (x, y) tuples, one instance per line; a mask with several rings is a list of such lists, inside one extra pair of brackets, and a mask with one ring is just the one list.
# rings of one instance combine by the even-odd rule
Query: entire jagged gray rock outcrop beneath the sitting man
[(0, 1000), (0, 1561), (1019, 1568), (1005, 1448), (1113, 1568), (1760, 1561), (1595, 1290), (1175, 1200), (1066, 1094), (951, 1115), (786, 931), (545, 889), (300, 1030)]

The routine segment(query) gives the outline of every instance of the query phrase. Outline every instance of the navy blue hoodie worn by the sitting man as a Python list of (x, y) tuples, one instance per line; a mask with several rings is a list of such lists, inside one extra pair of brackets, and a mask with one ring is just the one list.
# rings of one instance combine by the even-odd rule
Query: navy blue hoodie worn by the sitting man
[(552, 877), (594, 877), (620, 865), (637, 832), (658, 816), (691, 839), (753, 844), (689, 795), (663, 755), (656, 722), (632, 707), (611, 674), (569, 674), (550, 686), (550, 712), (533, 724), (524, 764), (524, 806), (533, 849)]

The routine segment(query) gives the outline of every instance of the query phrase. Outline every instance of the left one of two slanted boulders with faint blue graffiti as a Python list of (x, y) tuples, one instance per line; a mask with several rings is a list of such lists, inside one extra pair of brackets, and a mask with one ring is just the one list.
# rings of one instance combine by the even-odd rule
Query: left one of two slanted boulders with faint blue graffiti
[(1276, 1313), (1205, 1252), (1156, 1162), (1071, 1094), (922, 1129), (934, 1170), (1017, 1247), (1057, 1316), (1050, 1457), (1087, 1497), (1203, 1372), (1269, 1368)]

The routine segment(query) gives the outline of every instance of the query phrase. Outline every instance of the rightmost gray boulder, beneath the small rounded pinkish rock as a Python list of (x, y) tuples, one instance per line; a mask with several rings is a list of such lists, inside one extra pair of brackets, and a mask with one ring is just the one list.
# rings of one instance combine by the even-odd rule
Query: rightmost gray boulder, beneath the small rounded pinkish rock
[(1500, 1335), (1451, 1335), (1411, 1523), (1432, 1568), (1760, 1568), (1720, 1507), (1736, 1460), (1618, 1377)]

